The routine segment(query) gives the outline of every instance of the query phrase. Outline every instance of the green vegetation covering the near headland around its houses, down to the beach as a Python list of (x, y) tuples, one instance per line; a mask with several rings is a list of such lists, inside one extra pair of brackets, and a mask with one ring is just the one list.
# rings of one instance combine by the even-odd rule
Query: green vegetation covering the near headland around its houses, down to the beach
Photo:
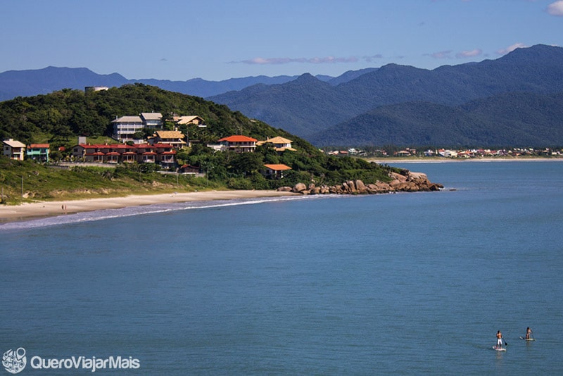
[[(25, 144), (49, 142), (52, 150), (58, 146), (70, 150), (77, 144), (78, 135), (107, 137), (111, 132), (110, 122), (116, 116), (148, 111), (165, 116), (172, 113), (198, 115), (205, 119), (205, 128), (184, 129), (184, 132), (190, 132), (190, 139), (199, 142), (177, 153), (181, 163), (200, 168), (205, 179), (160, 175), (156, 172), (158, 166), (153, 164), (55, 170), (31, 161), (10, 161), (2, 156), (0, 184), (8, 201), (20, 199), (22, 195), (53, 199), (84, 194), (122, 195), (139, 190), (275, 189), (297, 182), (331, 185), (351, 179), (366, 183), (388, 180), (388, 169), (381, 165), (355, 158), (327, 156), (303, 139), (229, 111), (227, 106), (144, 84), (127, 84), (89, 93), (63, 89), (52, 94), (1, 102), (0, 137), (18, 139)], [(167, 126), (172, 127), (172, 123), (168, 122)], [(271, 146), (262, 145), (255, 153), (216, 152), (206, 146), (208, 142), (232, 134), (245, 134), (259, 140), (286, 137), (293, 141), (296, 151), (279, 155)], [(56, 158), (65, 157), (64, 153), (54, 153)], [(292, 170), (287, 171), (283, 179), (267, 179), (261, 174), (265, 163), (283, 163)]]

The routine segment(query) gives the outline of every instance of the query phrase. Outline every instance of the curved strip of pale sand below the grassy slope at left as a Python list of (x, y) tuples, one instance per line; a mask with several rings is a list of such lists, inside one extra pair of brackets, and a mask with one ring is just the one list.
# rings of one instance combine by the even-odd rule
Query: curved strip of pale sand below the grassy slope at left
[(83, 211), (125, 208), (127, 206), (151, 205), (156, 203), (177, 203), (188, 201), (213, 201), (229, 199), (253, 199), (296, 195), (277, 191), (206, 191), (172, 194), (146, 194), (106, 199), (84, 199), (76, 201), (39, 201), (20, 205), (0, 205), (0, 223), (50, 217)]

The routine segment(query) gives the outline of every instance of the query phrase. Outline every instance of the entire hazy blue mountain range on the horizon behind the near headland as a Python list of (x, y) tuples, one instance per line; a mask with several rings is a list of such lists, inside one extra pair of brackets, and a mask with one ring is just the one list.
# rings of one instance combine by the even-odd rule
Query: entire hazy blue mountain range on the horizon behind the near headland
[(62, 88), (143, 83), (225, 104), (317, 146), (563, 145), (563, 49), (426, 70), (388, 64), (339, 77), (127, 80), (87, 68), (0, 73), (0, 101)]

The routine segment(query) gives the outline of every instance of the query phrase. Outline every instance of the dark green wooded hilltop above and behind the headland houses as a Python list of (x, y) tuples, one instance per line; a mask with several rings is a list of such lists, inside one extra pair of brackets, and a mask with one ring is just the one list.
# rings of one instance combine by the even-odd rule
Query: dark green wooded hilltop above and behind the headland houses
[(63, 89), (0, 102), (0, 137), (26, 144), (51, 142), (56, 146), (77, 135), (109, 135), (111, 121), (115, 118), (151, 111), (168, 118), (171, 113), (200, 116), (208, 125), (202, 137), (209, 141), (230, 134), (260, 138), (280, 133), (289, 135), (198, 96), (167, 92), (144, 84), (125, 84), (107, 91)]

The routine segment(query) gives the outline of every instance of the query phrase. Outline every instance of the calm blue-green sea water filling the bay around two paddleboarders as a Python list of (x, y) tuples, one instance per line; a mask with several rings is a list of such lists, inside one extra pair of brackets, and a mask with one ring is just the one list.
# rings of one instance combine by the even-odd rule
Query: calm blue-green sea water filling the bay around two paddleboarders
[(22, 375), (563, 374), (563, 162), (402, 167), (445, 189), (0, 225), (0, 352)]

